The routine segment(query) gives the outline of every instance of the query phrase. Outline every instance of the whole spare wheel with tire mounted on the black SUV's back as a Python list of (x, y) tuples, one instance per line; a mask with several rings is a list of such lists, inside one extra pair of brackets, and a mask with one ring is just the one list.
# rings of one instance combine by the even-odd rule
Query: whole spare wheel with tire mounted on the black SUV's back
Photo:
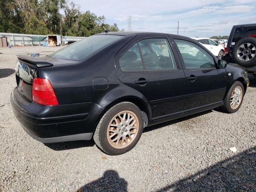
[(233, 52), (236, 63), (243, 67), (253, 67), (256, 65), (256, 38), (248, 37), (236, 43)]

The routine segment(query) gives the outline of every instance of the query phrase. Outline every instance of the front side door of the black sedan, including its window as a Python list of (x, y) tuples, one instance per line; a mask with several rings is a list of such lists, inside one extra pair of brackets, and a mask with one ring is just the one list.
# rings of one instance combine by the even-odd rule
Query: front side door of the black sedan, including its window
[(187, 45), (204, 55), (202, 59), (198, 60), (198, 58), (179, 50), (187, 82), (184, 114), (202, 108), (220, 106), (226, 92), (226, 70), (217, 69), (216, 58), (198, 44), (188, 39), (174, 39), (174, 42), (177, 49), (180, 45)]

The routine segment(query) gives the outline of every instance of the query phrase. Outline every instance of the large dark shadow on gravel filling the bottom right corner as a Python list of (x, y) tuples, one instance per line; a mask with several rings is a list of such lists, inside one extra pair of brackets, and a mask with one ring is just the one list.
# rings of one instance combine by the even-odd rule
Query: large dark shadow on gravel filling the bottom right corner
[(256, 147), (210, 166), (155, 192), (256, 191)]

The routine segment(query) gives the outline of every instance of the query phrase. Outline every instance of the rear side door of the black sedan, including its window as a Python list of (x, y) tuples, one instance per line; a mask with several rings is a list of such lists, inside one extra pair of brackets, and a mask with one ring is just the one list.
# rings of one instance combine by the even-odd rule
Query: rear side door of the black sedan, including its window
[(115, 57), (119, 80), (148, 99), (153, 120), (182, 114), (186, 78), (175, 53), (167, 35), (137, 34)]

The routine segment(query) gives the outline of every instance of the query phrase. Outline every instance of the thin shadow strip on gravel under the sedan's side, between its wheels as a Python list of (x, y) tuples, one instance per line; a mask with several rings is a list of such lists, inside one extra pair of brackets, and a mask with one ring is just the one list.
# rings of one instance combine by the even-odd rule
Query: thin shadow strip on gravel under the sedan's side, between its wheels
[(205, 114), (208, 114), (208, 113), (211, 113), (211, 112), (213, 112), (213, 110), (207, 110), (207, 111), (203, 111), (203, 112), (200, 112), (200, 113), (197, 113), (197, 114), (194, 114), (194, 115), (190, 115), (190, 116), (182, 117), (182, 118), (179, 118), (179, 119), (170, 120), (168, 122), (156, 124), (156, 125), (153, 125), (153, 126), (150, 126), (150, 127), (146, 127), (146, 128), (144, 128), (143, 133), (146, 133), (146, 132), (158, 129), (158, 128), (162, 128), (162, 127), (165, 127), (165, 126), (169, 126), (169, 125), (172, 125), (172, 124), (176, 124), (176, 123), (179, 123), (179, 122), (182, 122), (182, 121), (186, 121), (186, 120), (189, 120), (189, 119), (201, 116), (201, 115), (205, 115)]

